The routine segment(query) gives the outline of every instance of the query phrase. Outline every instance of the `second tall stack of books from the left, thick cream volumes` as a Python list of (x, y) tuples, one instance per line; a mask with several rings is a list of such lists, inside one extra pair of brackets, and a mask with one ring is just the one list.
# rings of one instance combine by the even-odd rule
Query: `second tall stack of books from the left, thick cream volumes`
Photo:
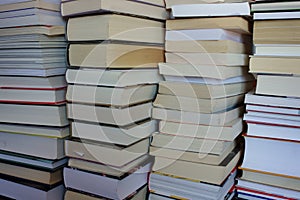
[(146, 198), (166, 14), (159, 0), (62, 2), (72, 120), (65, 199)]

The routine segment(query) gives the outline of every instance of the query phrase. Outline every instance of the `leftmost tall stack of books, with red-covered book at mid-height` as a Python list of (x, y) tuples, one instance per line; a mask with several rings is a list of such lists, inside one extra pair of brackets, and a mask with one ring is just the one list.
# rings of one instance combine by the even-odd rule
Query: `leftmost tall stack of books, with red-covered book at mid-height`
[(0, 2), (0, 196), (63, 199), (69, 122), (59, 4)]

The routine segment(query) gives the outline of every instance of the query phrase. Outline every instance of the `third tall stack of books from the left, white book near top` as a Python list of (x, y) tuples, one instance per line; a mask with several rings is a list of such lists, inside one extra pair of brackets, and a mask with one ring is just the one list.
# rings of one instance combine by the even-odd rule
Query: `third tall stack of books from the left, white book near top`
[[(240, 159), (251, 30), (248, 2), (177, 4), (166, 22), (150, 155), (150, 199), (224, 199)], [(185, 1), (181, 1), (185, 2)], [(180, 3), (178, 1), (177, 3)]]

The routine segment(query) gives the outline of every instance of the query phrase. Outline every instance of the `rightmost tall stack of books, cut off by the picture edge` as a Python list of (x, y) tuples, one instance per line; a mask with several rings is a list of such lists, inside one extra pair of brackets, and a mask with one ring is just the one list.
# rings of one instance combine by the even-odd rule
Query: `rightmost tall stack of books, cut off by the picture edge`
[(244, 199), (300, 198), (300, 2), (259, 1), (254, 12), (255, 92), (246, 95)]

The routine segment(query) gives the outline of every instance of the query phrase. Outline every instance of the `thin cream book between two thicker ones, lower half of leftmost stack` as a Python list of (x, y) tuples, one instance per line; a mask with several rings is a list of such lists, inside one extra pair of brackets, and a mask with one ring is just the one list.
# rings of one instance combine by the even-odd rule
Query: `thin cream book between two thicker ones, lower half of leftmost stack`
[(70, 129), (68, 126), (49, 127), (28, 124), (0, 123), (0, 131), (6, 133), (22, 133), (25, 135), (38, 135), (56, 138), (64, 138), (70, 135)]

